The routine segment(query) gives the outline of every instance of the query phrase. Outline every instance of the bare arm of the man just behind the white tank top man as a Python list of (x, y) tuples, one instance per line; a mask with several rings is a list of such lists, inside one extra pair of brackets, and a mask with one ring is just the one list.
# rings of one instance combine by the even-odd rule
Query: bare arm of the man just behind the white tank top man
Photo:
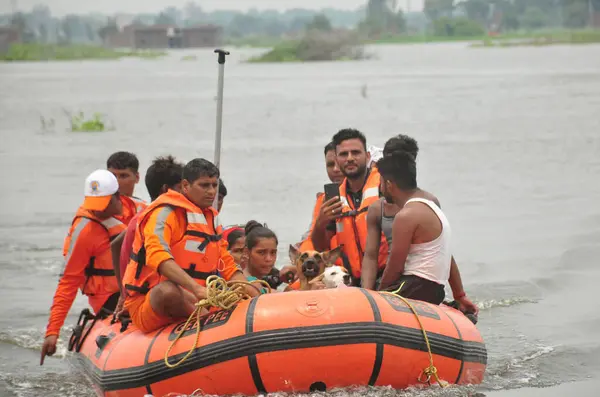
[(371, 290), (375, 289), (375, 281), (377, 279), (377, 260), (381, 242), (380, 213), (381, 201), (376, 201), (369, 206), (369, 211), (367, 212), (367, 242), (365, 244), (365, 255), (361, 268), (361, 286)]

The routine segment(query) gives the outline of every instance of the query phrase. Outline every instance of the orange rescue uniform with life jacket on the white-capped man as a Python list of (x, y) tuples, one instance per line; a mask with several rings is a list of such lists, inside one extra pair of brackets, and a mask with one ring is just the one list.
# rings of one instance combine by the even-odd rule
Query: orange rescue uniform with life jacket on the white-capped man
[(64, 242), (65, 267), (54, 294), (46, 336), (59, 335), (78, 289), (88, 297), (95, 313), (119, 292), (110, 242), (124, 230), (125, 225), (115, 218), (102, 220), (83, 208), (77, 210)]

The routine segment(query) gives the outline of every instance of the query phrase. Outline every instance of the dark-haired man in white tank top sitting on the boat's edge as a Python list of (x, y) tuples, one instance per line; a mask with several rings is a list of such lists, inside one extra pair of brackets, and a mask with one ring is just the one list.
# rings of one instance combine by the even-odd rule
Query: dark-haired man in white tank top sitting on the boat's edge
[(450, 277), (451, 228), (442, 210), (417, 186), (415, 159), (394, 152), (379, 160), (386, 196), (401, 208), (392, 226), (392, 248), (380, 290), (440, 304)]

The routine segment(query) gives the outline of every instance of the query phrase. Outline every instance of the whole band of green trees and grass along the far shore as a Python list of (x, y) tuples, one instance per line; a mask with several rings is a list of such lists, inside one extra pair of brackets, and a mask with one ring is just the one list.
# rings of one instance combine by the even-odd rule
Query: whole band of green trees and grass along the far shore
[[(177, 29), (210, 27), (212, 32), (218, 30), (219, 37), (211, 33), (211, 47), (266, 48), (266, 54), (247, 61), (275, 63), (368, 59), (364, 48), (377, 44), (465, 42), (493, 48), (600, 43), (600, 0), (424, 0), (419, 11), (408, 10), (397, 0), (361, 2), (354, 10), (242, 12), (207, 11), (189, 1), (157, 13), (134, 13), (127, 22), (118, 14), (53, 16), (48, 6), (38, 5), (27, 12), (0, 13), (0, 34), (8, 37), (7, 43), (25, 43), (0, 53), (0, 61), (155, 59), (177, 52), (103, 47), (124, 42), (114, 39), (128, 27), (152, 31), (139, 41), (149, 48), (178, 46), (178, 40), (169, 45), (164, 37), (176, 34)], [(179, 34), (183, 40), (182, 31)], [(0, 46), (0, 51), (6, 52), (6, 46)], [(180, 58), (193, 60), (192, 56)]]

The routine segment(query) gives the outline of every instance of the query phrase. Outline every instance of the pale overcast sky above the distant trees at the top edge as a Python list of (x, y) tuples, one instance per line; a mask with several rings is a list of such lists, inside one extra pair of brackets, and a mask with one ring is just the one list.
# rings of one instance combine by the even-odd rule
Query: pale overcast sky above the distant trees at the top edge
[[(16, 4), (21, 11), (29, 11), (35, 4), (47, 4), (54, 15), (60, 16), (69, 13), (84, 14), (88, 12), (102, 12), (112, 14), (115, 12), (142, 13), (158, 12), (163, 8), (174, 6), (183, 7), (190, 0), (0, 0), (0, 12), (10, 12), (11, 5)], [(311, 8), (320, 9), (334, 7), (340, 9), (356, 9), (366, 4), (367, 0), (196, 0), (206, 10), (236, 9), (278, 9)], [(410, 3), (415, 10), (422, 5), (423, 0), (399, 0), (403, 8)], [(405, 8), (404, 8), (405, 9)]]

